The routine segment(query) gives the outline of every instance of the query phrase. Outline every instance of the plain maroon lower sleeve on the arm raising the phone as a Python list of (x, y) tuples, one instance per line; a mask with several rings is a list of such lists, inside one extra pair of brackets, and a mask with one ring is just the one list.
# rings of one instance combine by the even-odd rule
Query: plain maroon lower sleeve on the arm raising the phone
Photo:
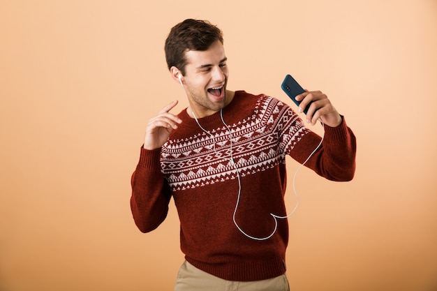
[[(356, 138), (344, 117), (342, 119), (336, 128), (325, 126), (321, 147), (305, 164), (320, 176), (332, 181), (350, 181), (355, 175)], [(290, 155), (299, 163), (304, 163), (316, 149), (320, 139), (320, 136), (309, 130)]]

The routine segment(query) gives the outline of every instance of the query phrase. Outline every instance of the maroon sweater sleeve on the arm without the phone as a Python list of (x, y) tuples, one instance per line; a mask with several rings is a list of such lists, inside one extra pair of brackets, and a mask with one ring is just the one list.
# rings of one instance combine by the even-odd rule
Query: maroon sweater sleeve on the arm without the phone
[(161, 173), (161, 149), (141, 147), (140, 161), (132, 174), (131, 211), (141, 232), (151, 232), (168, 214), (171, 193)]

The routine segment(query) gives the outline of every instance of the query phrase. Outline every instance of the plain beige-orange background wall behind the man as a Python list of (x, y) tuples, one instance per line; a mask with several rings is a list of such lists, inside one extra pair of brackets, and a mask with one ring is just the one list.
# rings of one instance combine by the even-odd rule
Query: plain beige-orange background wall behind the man
[(434, 0), (0, 0), (0, 290), (172, 290), (174, 204), (141, 234), (129, 183), (149, 118), (186, 106), (163, 42), (187, 17), (223, 29), (230, 89), (288, 102), (291, 73), (357, 135), (350, 183), (298, 174), (292, 290), (437, 290)]

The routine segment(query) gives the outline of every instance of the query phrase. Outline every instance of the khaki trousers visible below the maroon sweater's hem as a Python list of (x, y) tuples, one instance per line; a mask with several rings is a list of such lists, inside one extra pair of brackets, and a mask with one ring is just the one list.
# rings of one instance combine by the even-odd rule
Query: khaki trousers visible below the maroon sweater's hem
[(285, 274), (261, 281), (226, 281), (184, 262), (177, 274), (175, 291), (289, 291)]

